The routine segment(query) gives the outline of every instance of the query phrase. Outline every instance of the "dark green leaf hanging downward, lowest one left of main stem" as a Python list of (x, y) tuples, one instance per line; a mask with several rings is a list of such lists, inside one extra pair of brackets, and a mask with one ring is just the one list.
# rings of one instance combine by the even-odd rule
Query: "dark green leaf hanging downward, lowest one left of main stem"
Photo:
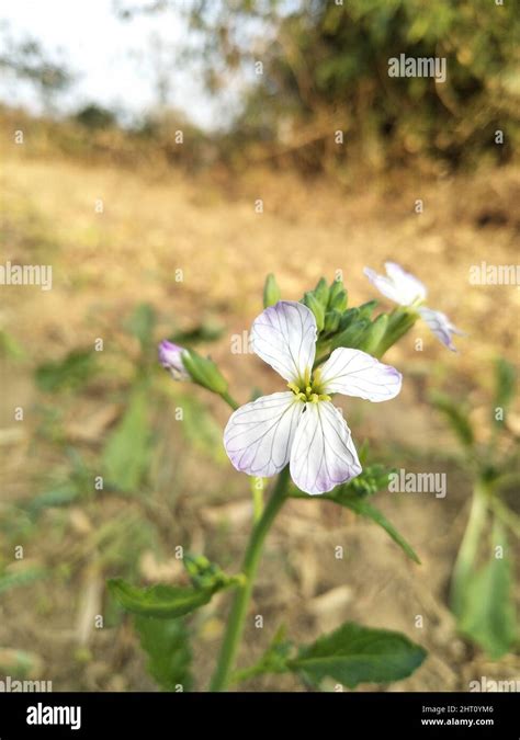
[(134, 626), (148, 656), (148, 673), (159, 686), (166, 691), (190, 691), (192, 656), (184, 622), (135, 616)]

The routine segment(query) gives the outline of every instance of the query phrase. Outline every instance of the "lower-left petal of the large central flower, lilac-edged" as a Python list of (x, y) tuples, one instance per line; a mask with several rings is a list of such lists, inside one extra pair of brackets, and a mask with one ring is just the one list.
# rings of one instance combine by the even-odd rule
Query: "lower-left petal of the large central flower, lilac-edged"
[(237, 409), (224, 431), (224, 446), (234, 467), (265, 478), (285, 467), (304, 407), (293, 392), (285, 391)]

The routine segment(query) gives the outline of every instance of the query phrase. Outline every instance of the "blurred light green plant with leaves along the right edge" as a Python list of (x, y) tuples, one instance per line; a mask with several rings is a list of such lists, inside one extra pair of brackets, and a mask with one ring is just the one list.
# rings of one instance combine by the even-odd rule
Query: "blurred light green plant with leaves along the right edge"
[[(501, 454), (497, 445), (506, 426), (498, 422), (495, 410), (506, 411), (516, 389), (515, 368), (504, 358), (495, 363), (495, 394), (490, 409), (491, 430), (485, 443), (477, 444), (463, 403), (437, 394), (434, 406), (450, 422), (462, 444), (466, 465), (473, 476), (473, 498), (455, 567), (451, 579), (451, 608), (461, 633), (479, 645), (491, 659), (511, 649), (517, 639), (512, 595), (512, 565), (507, 548), (505, 528), (517, 536), (517, 514), (501, 501), (508, 481), (518, 480), (515, 473), (516, 454)], [(493, 523), (493, 526), (491, 526)], [(482, 549), (491, 530), (493, 553), (484, 558)], [(495, 548), (501, 546), (502, 557)]]

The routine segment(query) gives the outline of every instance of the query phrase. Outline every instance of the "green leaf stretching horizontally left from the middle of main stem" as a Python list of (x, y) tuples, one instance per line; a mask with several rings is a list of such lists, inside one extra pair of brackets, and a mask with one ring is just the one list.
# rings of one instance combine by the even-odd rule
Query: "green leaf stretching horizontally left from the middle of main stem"
[(194, 589), (163, 583), (142, 589), (122, 578), (112, 578), (109, 581), (109, 590), (127, 612), (168, 619), (204, 606), (218, 589)]

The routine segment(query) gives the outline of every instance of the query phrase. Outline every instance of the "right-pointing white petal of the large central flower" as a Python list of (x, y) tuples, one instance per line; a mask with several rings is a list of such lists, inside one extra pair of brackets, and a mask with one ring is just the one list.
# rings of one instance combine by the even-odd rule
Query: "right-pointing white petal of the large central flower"
[(358, 396), (369, 401), (387, 401), (397, 396), (402, 374), (383, 365), (361, 350), (340, 346), (321, 367), (320, 383), (326, 394)]

